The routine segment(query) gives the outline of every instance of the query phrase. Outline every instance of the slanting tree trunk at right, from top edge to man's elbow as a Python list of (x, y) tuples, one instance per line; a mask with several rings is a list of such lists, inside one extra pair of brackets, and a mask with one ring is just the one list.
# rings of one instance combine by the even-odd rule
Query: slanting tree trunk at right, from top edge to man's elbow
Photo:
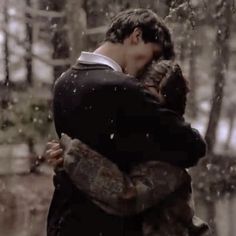
[(212, 107), (208, 127), (206, 131), (206, 142), (208, 151), (214, 151), (216, 143), (216, 131), (220, 119), (221, 107), (224, 96), (225, 87), (225, 71), (229, 63), (229, 36), (231, 23), (230, 3), (226, 0), (218, 0), (216, 7), (217, 33), (215, 40), (216, 56), (213, 64), (214, 92), (212, 99)]

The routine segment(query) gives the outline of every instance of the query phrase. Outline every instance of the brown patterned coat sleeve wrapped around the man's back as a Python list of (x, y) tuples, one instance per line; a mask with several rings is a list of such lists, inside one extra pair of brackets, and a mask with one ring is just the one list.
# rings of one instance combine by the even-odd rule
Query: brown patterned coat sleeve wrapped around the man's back
[(140, 213), (191, 182), (185, 171), (156, 161), (128, 175), (77, 139), (63, 136), (61, 142), (64, 169), (75, 186), (116, 215)]

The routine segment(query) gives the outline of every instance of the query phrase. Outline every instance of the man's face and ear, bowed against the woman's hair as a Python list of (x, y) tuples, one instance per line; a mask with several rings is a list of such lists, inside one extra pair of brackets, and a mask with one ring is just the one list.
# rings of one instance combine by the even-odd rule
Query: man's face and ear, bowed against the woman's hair
[(155, 58), (161, 56), (161, 46), (157, 43), (145, 43), (141, 35), (131, 35), (126, 44), (125, 73), (137, 76)]

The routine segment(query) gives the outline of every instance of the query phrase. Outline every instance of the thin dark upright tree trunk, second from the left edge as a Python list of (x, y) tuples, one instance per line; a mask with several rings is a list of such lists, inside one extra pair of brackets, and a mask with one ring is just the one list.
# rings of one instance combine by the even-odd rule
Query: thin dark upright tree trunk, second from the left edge
[[(31, 0), (26, 0), (26, 6), (31, 7)], [(33, 46), (33, 19), (30, 14), (25, 14), (26, 18), (26, 80), (29, 85), (33, 84), (33, 69), (32, 69), (32, 46)]]

